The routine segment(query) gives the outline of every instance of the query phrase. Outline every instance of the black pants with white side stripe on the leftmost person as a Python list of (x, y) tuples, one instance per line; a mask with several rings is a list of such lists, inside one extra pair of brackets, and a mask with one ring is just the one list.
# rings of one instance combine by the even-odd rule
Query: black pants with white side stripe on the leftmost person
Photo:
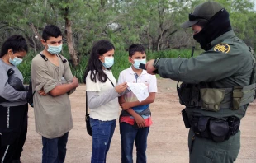
[(0, 162), (20, 160), (26, 141), (28, 105), (0, 105)]

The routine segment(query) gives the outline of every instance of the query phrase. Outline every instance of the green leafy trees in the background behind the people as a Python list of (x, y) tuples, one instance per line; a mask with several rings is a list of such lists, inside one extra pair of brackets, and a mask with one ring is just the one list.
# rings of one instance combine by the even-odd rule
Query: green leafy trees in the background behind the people
[[(196, 42), (191, 29), (180, 24), (204, 0), (2, 0), (0, 43), (9, 35), (26, 36), (37, 54), (43, 49), (40, 35), (45, 25), (64, 31), (64, 50), (73, 66), (88, 54), (93, 42), (111, 40), (116, 49), (141, 43), (150, 50), (189, 48)], [(216, 0), (230, 12), (232, 27), (241, 39), (256, 48), (254, 2)], [(10, 9), (11, 8), (11, 9)], [(198, 44), (197, 44), (198, 45)]]

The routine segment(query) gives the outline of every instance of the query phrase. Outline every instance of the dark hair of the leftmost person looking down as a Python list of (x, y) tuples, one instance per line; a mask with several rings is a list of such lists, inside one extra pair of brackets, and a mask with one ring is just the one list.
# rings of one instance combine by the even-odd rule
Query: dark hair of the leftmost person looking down
[(28, 47), (26, 40), (22, 35), (12, 35), (7, 38), (7, 40), (2, 44), (0, 58), (7, 54), (9, 49), (12, 49), (13, 54), (23, 51), (27, 52)]

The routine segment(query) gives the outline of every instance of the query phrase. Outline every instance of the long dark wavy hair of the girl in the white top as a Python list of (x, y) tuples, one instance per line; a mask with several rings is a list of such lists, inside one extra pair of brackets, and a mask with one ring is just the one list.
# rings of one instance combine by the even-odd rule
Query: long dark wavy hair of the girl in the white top
[[(99, 55), (106, 54), (108, 51), (115, 49), (114, 45), (109, 40), (98, 40), (92, 47), (92, 52), (88, 60), (87, 68), (84, 72), (83, 82), (86, 83), (88, 72), (91, 71), (91, 80), (96, 82), (96, 77), (101, 82), (107, 81), (107, 75), (103, 72), (102, 62), (99, 60)], [(98, 74), (98, 75), (97, 75)]]

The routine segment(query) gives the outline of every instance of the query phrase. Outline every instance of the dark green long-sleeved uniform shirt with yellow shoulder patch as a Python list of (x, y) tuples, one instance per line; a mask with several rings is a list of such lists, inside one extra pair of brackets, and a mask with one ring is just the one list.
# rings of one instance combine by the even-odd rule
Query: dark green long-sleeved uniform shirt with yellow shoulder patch
[[(159, 75), (191, 84), (206, 83), (210, 88), (248, 86), (253, 70), (249, 47), (235, 36), (233, 30), (211, 42), (212, 49), (194, 58), (160, 58), (155, 65)], [(238, 110), (220, 109), (218, 112), (200, 108), (186, 109), (194, 116), (242, 118), (248, 105)]]

